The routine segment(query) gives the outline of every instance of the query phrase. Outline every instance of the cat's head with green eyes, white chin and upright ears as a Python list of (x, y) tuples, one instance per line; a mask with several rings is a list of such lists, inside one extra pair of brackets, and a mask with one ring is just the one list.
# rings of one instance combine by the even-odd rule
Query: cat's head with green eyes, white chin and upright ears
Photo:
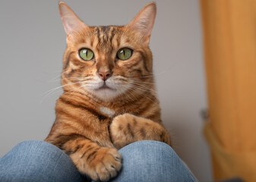
[(67, 34), (62, 86), (108, 102), (143, 94), (153, 83), (150, 34), (156, 4), (146, 5), (128, 25), (89, 27), (64, 2), (59, 11)]

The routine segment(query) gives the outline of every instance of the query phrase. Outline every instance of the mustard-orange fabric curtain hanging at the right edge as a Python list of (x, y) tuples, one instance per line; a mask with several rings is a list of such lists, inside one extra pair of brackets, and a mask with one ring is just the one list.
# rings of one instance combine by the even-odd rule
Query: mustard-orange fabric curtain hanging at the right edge
[(256, 181), (256, 0), (201, 0), (216, 180)]

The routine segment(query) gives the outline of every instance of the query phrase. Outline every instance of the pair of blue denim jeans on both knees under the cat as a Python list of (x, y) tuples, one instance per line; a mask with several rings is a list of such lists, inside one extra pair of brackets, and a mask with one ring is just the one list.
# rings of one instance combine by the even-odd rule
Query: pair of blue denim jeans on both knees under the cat
[[(165, 143), (140, 141), (119, 150), (122, 170), (111, 181), (195, 181), (182, 160)], [(71, 158), (43, 141), (19, 143), (0, 158), (0, 181), (90, 181), (77, 171)]]

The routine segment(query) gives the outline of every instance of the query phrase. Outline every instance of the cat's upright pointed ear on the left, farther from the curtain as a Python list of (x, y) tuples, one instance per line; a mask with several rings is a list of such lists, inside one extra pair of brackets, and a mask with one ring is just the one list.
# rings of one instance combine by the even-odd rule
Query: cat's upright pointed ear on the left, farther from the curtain
[(82, 22), (65, 2), (58, 3), (59, 14), (67, 36), (74, 36), (74, 33), (84, 30), (88, 26)]

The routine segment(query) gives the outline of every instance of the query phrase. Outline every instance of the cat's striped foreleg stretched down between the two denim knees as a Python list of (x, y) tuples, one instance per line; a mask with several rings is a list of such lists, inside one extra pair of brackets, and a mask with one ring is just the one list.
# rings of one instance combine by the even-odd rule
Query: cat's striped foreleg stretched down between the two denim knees
[[(77, 134), (62, 135), (62, 143), (52, 144), (67, 153), (78, 170), (93, 180), (109, 180), (122, 167), (122, 157), (116, 149), (99, 146), (84, 136)], [(60, 137), (58, 137), (60, 139)], [(47, 142), (51, 142), (48, 138)]]

